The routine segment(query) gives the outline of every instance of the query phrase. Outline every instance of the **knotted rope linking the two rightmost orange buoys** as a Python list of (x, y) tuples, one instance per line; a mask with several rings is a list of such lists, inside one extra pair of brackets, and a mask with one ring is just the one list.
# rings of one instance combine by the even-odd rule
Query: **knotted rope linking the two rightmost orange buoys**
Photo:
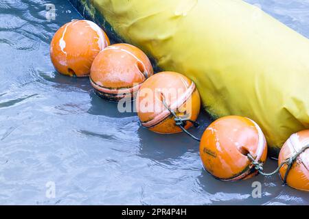
[(301, 155), (301, 153), (303, 153), (304, 151), (306, 151), (307, 149), (309, 149), (309, 144), (307, 144), (306, 146), (304, 146), (301, 150), (299, 150), (297, 153), (295, 153), (292, 157), (286, 159), (284, 162), (282, 162), (277, 169), (275, 169), (275, 171), (270, 172), (270, 173), (266, 173), (263, 170), (263, 163), (257, 162), (255, 161), (255, 159), (253, 158), (253, 156), (248, 153), (247, 157), (250, 159), (250, 161), (252, 162), (253, 166), (255, 167), (255, 170), (258, 170), (258, 172), (260, 172), (261, 175), (263, 175), (264, 177), (270, 177), (272, 175), (275, 175), (279, 172), (279, 170), (282, 168), (282, 166), (284, 166), (284, 164), (288, 165), (288, 168), (286, 170), (286, 174), (284, 175), (284, 184), (286, 183), (286, 178), (288, 177), (288, 172), (290, 172), (290, 168), (293, 166), (294, 162), (296, 161), (297, 157), (299, 155)]

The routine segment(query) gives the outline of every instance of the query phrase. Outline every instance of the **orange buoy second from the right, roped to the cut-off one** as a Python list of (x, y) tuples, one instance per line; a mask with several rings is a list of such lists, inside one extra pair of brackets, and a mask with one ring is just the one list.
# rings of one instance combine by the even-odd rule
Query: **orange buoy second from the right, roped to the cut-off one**
[(207, 172), (223, 181), (248, 179), (258, 174), (247, 157), (265, 162), (267, 144), (260, 127), (242, 116), (225, 116), (203, 133), (200, 155)]

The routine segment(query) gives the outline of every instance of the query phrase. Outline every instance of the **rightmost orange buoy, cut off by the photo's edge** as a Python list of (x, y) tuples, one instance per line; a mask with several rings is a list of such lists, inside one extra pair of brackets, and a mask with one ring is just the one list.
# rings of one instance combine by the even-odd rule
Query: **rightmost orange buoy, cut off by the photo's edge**
[[(286, 161), (286, 159), (293, 157), (295, 153), (300, 152), (301, 149), (303, 149), (304, 146), (308, 146), (308, 144), (309, 129), (294, 133), (288, 138), (284, 146), (282, 146), (279, 153), (278, 164), (280, 165), (282, 162)], [(284, 164), (280, 169), (280, 177), (282, 179), (284, 179), (287, 169), (288, 164)], [(309, 192), (309, 149), (306, 149), (296, 158), (288, 171), (286, 183), (297, 190)]]

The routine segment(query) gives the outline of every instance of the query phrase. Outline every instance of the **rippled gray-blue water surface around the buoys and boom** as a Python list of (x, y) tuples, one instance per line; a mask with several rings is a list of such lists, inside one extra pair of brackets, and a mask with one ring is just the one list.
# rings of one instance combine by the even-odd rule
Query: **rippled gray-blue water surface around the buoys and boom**
[[(308, 0), (249, 2), (309, 37)], [(98, 98), (89, 79), (56, 73), (49, 42), (73, 18), (82, 16), (65, 0), (0, 1), (0, 204), (309, 204), (278, 176), (214, 179), (198, 142), (143, 129), (136, 114)], [(202, 113), (198, 122), (201, 136), (210, 121)], [(266, 170), (276, 166), (268, 159)], [(262, 198), (251, 195), (254, 181)]]

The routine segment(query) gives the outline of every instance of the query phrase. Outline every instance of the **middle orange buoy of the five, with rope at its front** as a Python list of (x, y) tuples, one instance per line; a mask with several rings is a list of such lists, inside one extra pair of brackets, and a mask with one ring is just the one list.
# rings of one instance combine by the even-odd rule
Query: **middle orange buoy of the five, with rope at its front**
[[(201, 99), (193, 81), (179, 73), (162, 72), (153, 75), (141, 86), (136, 107), (141, 125), (147, 129), (157, 133), (179, 133), (182, 130), (176, 125), (170, 110), (177, 117), (195, 121)], [(191, 126), (192, 123), (187, 122), (184, 128)]]

